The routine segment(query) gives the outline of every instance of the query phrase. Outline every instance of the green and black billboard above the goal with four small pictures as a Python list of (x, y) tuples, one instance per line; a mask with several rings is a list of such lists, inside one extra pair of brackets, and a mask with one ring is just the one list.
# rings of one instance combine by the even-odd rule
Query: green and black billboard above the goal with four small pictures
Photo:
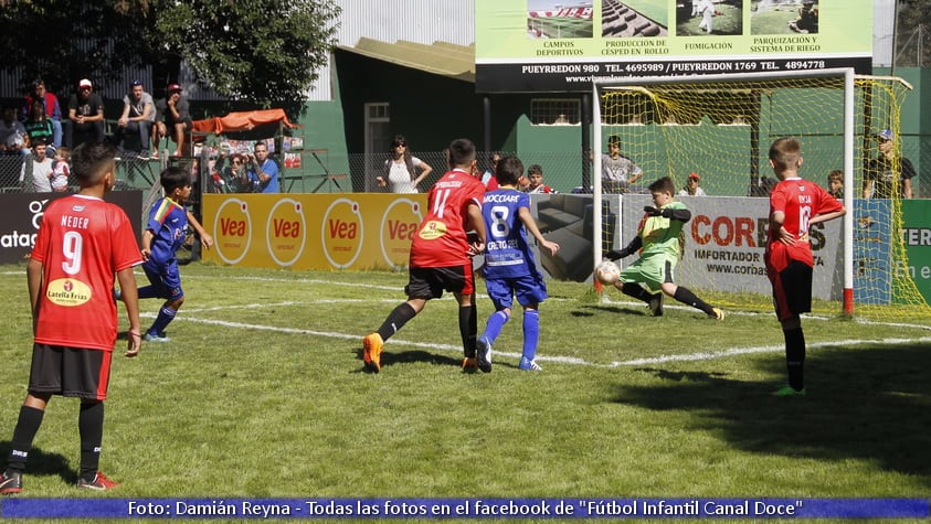
[(475, 1), (478, 93), (588, 92), (592, 78), (854, 67), (871, 0)]

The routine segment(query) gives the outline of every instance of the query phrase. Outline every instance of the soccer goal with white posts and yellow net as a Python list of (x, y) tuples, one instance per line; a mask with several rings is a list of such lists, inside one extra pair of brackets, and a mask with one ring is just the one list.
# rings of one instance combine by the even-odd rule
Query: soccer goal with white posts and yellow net
[[(775, 139), (790, 136), (802, 145), (803, 178), (827, 189), (829, 173), (839, 173), (848, 212), (811, 232), (814, 297), (837, 301), (847, 313), (855, 303), (858, 314), (899, 303), (927, 314), (931, 307), (911, 278), (902, 242), (898, 179), (890, 197), (861, 197), (865, 178), (876, 174), (877, 137), (899, 136), (909, 88), (851, 69), (595, 81), (593, 142), (602, 152), (592, 156), (592, 189), (602, 242), (593, 243), (592, 267), (604, 250), (630, 243), (652, 204), (647, 186), (670, 177), (676, 197), (692, 212), (677, 281), (769, 297), (763, 250), (776, 180), (768, 154)], [(623, 169), (616, 153), (607, 154), (609, 142), (620, 142), (620, 154), (636, 167)], [(898, 157), (890, 158), (896, 168)], [(639, 180), (618, 182), (638, 170)], [(690, 177), (705, 195), (692, 194)]]

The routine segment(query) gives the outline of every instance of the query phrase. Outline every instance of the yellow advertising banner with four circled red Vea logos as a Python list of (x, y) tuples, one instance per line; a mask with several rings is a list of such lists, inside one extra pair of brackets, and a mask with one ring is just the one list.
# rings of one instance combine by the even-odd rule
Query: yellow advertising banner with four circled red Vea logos
[(399, 269), (425, 194), (205, 194), (204, 260), (294, 269)]

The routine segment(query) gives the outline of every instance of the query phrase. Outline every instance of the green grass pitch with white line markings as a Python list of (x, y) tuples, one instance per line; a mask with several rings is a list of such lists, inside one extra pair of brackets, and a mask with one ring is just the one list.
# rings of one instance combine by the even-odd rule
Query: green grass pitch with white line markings
[[(782, 333), (760, 297), (700, 292), (726, 307), (723, 322), (668, 299), (652, 318), (620, 293), (607, 303), (586, 285), (551, 281), (544, 371), (517, 370), (517, 314), (493, 373), (476, 375), (459, 371), (456, 307), (444, 298), (389, 340), (372, 375), (361, 336), (404, 299), (406, 274), (193, 264), (182, 278), (172, 342), (115, 356), (102, 469), (121, 485), (107, 496), (927, 498), (931, 488), (931, 319), (906, 309), (886, 324), (816, 304), (803, 322), (808, 396), (774, 398)], [(0, 285), (6, 457), (31, 322), (23, 267), (0, 268)], [(158, 306), (142, 301), (144, 327)], [(480, 297), (479, 331), (490, 312)], [(76, 414), (73, 399), (50, 404), (24, 495), (86, 496), (73, 488)]]

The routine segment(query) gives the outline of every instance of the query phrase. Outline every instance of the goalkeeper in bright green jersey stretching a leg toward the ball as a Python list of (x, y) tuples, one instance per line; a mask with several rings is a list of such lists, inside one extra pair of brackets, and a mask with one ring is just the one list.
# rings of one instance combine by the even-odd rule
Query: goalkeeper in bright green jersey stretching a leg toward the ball
[(681, 258), (683, 242), (679, 236), (683, 226), (691, 220), (685, 204), (673, 196), (676, 186), (673, 179), (664, 177), (649, 184), (653, 203), (644, 207), (643, 225), (637, 236), (623, 249), (607, 252), (607, 258), (617, 260), (633, 255), (638, 249), (641, 257), (621, 271), (614, 287), (624, 295), (643, 300), (654, 317), (663, 314), (663, 293), (679, 302), (700, 309), (708, 317), (724, 319), (724, 312), (696, 297), (685, 286), (674, 282), (676, 265)]

